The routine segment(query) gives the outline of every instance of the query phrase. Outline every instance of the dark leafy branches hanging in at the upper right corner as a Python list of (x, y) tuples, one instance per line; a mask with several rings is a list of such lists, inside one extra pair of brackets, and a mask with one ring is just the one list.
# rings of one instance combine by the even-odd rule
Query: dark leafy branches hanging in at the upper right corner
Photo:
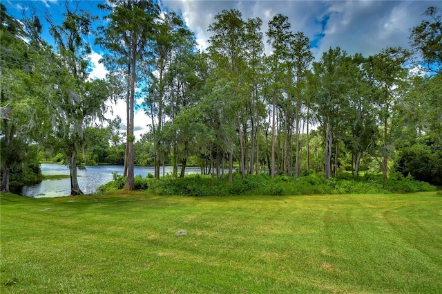
[(428, 19), (411, 29), (410, 43), (416, 65), (442, 73), (442, 10), (431, 6), (423, 14)]

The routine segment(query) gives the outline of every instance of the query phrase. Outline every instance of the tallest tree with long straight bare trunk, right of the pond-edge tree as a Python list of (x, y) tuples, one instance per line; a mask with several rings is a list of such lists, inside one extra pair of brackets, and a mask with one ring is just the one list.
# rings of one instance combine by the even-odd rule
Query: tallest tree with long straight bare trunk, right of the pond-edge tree
[(138, 72), (144, 58), (150, 58), (150, 46), (154, 37), (155, 19), (159, 17), (160, 8), (154, 1), (146, 0), (109, 0), (108, 4), (99, 8), (110, 12), (105, 18), (106, 28), (99, 28), (103, 37), (97, 38), (100, 44), (110, 52), (104, 59), (106, 64), (113, 63), (111, 70), (118, 75), (122, 72), (126, 77), (126, 190), (135, 190), (134, 184), (134, 153), (133, 135), (134, 103), (136, 85), (139, 81)]

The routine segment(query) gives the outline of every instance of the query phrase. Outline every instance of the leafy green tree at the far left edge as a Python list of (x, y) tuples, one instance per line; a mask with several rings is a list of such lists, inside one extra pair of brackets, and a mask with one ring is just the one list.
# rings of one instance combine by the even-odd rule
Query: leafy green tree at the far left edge
[(32, 140), (46, 130), (41, 104), (39, 69), (44, 59), (23, 41), (22, 24), (0, 3), (0, 145), (1, 191), (9, 191), (11, 172), (26, 169), (32, 158)]

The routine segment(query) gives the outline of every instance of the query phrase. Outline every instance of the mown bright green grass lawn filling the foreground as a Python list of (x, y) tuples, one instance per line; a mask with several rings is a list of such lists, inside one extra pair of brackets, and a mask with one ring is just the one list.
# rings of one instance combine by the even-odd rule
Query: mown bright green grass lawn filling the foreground
[(93, 197), (1, 195), (0, 293), (442, 293), (436, 192)]

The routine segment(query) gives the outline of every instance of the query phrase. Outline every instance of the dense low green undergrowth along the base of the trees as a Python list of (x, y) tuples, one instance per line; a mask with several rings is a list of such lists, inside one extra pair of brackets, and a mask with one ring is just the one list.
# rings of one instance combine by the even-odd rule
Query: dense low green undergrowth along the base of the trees
[[(124, 188), (126, 178), (113, 174), (113, 181), (99, 187), (99, 192)], [(436, 187), (429, 183), (416, 181), (412, 176), (403, 177), (396, 172), (383, 180), (380, 175), (365, 174), (354, 177), (352, 174), (338, 174), (334, 178), (311, 174), (299, 178), (267, 175), (246, 176), (233, 174), (229, 183), (226, 177), (211, 178), (200, 174), (187, 175), (184, 178), (165, 176), (145, 178), (135, 176), (135, 188), (146, 190), (155, 195), (183, 196), (225, 196), (225, 195), (298, 195), (298, 194), (374, 194), (374, 193), (410, 193), (434, 191)]]

